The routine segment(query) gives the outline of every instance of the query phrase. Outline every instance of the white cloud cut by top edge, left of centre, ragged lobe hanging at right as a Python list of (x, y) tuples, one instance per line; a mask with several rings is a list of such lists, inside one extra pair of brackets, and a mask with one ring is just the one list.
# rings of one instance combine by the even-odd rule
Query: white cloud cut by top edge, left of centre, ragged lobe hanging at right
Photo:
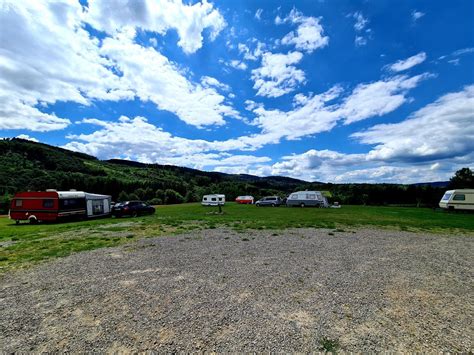
[(129, 26), (161, 35), (174, 29), (186, 53), (202, 47), (204, 30), (209, 28), (214, 40), (226, 26), (220, 12), (207, 1), (187, 5), (181, 0), (90, 0), (85, 20), (111, 35)]

